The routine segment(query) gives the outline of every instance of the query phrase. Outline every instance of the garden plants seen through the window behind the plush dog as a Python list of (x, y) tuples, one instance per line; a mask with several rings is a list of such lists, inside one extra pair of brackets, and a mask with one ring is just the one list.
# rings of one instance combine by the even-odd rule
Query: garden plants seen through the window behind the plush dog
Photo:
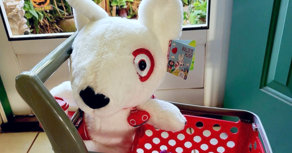
[[(21, 0), (22, 1), (22, 0)], [(46, 0), (44, 0), (46, 1)], [(38, 10), (33, 4), (41, 3), (39, 0), (24, 0), (22, 9), (25, 11), (23, 23), (27, 30), (21, 35), (53, 34), (75, 32), (76, 27), (72, 8), (66, 0), (48, 0), (51, 10)], [(129, 19), (138, 18), (138, 7), (143, 0), (93, 0), (110, 16), (120, 16)], [(184, 26), (206, 24), (208, 0), (181, 0), (184, 9)], [(5, 5), (5, 4), (4, 4)], [(8, 6), (7, 6), (8, 7)], [(167, 7), (167, 5), (166, 5)], [(21, 9), (21, 8), (20, 8)], [(6, 12), (8, 16), (9, 12)], [(9, 17), (8, 17), (9, 18)], [(22, 20), (21, 18), (19, 20)], [(9, 23), (11, 24), (11, 23)], [(13, 28), (13, 26), (10, 26)], [(14, 35), (14, 34), (13, 34)]]

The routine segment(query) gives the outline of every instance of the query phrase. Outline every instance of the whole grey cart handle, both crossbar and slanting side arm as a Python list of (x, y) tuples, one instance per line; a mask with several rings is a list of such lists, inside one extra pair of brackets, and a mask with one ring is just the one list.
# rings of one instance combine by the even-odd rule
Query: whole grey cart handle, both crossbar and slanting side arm
[(41, 123), (55, 153), (88, 153), (70, 119), (45, 87), (44, 82), (69, 58), (77, 32), (48, 54), (29, 72), (16, 77), (15, 87)]

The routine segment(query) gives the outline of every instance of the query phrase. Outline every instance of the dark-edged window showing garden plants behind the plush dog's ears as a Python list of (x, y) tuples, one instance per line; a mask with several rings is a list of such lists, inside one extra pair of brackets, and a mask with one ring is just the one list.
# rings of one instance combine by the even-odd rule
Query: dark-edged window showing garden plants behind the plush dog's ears
[[(93, 0), (110, 16), (138, 18), (142, 0)], [(182, 0), (184, 29), (208, 29), (210, 0)], [(76, 31), (72, 8), (66, 0), (0, 0), (8, 39), (68, 37)]]

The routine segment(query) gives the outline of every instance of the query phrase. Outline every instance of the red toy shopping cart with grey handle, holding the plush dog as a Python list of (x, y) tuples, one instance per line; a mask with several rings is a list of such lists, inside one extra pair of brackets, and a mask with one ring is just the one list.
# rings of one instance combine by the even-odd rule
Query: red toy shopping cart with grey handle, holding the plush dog
[[(70, 112), (69, 119), (44, 85), (70, 56), (76, 35), (70, 36), (30, 71), (18, 75), (15, 83), (18, 93), (46, 132), (55, 153), (90, 152), (78, 132), (82, 112)], [(159, 153), (161, 150), (172, 153), (272, 153), (260, 118), (252, 112), (173, 104), (187, 118), (185, 129), (171, 132), (155, 129), (148, 124), (140, 126), (135, 134), (132, 153)], [(214, 115), (233, 116), (239, 120), (215, 119)]]

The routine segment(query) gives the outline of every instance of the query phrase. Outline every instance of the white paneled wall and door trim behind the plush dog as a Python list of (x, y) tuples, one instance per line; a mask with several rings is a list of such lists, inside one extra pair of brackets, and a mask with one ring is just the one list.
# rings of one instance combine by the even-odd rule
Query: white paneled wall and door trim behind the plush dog
[[(232, 0), (212, 0), (210, 29), (183, 31), (182, 39), (197, 40), (195, 69), (187, 81), (166, 76), (155, 92), (158, 98), (168, 101), (206, 105), (222, 105), (228, 57)], [(65, 39), (46, 39), (9, 42), (0, 22), (0, 74), (14, 115), (31, 114), (28, 105), (15, 89), (15, 77), (28, 71)], [(69, 79), (67, 63), (52, 76), (48, 89)], [(173, 79), (176, 84), (169, 84)], [(176, 96), (180, 95), (180, 96)]]

